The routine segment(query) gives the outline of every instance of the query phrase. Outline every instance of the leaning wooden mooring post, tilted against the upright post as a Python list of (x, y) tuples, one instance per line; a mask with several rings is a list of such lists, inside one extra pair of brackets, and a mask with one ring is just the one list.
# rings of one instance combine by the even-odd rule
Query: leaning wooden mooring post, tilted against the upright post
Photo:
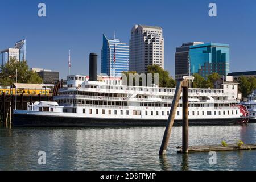
[(166, 151), (167, 151), (172, 126), (174, 125), (174, 119), (175, 119), (175, 114), (177, 111), (177, 106), (178, 106), (179, 100), (180, 100), (182, 85), (183, 85), (183, 81), (177, 82), (177, 86), (176, 86), (176, 90), (175, 90), (175, 94), (174, 94), (174, 100), (172, 100), (171, 110), (170, 110), (169, 117), (167, 120), (166, 130), (164, 131), (164, 136), (163, 136), (162, 144), (160, 147), (159, 155), (165, 155)]

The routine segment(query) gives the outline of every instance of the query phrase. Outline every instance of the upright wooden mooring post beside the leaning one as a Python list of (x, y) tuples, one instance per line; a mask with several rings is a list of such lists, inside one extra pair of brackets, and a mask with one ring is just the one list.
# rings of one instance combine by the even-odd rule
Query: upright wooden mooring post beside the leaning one
[(182, 152), (188, 153), (188, 80), (182, 85)]

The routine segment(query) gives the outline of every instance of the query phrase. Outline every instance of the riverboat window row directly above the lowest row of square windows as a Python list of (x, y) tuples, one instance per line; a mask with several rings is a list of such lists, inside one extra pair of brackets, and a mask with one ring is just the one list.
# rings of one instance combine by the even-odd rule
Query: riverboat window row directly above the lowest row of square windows
[[(127, 101), (86, 101), (86, 100), (72, 100), (72, 99), (61, 99), (56, 100), (59, 104), (88, 104), (88, 105), (108, 105), (108, 106), (127, 106)], [(133, 103), (133, 102), (130, 102)], [(159, 102), (139, 102), (138, 106), (144, 107), (171, 107), (170, 103), (159, 103)], [(230, 107), (232, 103), (227, 104), (214, 104), (214, 107)], [(210, 104), (189, 104), (189, 107), (210, 107)], [(182, 107), (182, 104), (179, 104), (178, 107)]]

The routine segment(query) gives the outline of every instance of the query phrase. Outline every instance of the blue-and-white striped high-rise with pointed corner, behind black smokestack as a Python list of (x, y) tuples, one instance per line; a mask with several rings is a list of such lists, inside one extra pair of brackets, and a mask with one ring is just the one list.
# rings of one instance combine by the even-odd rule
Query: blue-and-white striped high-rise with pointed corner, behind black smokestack
[(119, 39), (108, 39), (103, 34), (101, 48), (101, 73), (108, 76), (121, 76), (129, 71), (129, 46)]

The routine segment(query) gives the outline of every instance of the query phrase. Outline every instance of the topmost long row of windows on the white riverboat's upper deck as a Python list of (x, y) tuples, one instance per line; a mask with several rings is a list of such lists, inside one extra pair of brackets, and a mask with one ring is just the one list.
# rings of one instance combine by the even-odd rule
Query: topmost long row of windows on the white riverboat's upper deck
[[(143, 88), (141, 86), (96, 86), (96, 85), (85, 85), (85, 88), (98, 88), (98, 89), (115, 89), (115, 90), (137, 90), (137, 91), (148, 91), (148, 92), (175, 92), (175, 89), (158, 89), (158, 88)], [(189, 89), (189, 93), (223, 93), (223, 90), (198, 90)]]

